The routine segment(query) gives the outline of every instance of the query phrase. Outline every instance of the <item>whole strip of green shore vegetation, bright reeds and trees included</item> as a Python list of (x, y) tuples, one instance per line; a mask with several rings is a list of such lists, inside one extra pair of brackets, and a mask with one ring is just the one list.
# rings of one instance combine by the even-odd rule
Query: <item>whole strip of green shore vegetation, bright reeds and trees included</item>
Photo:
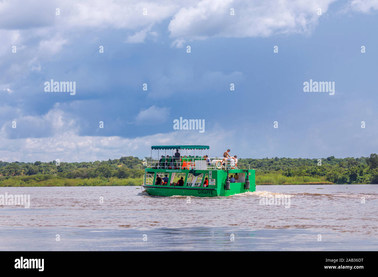
[[(378, 155), (337, 159), (239, 159), (240, 169), (256, 169), (256, 185), (378, 184)], [(0, 187), (130, 186), (143, 182), (143, 161), (122, 157), (95, 162), (3, 162)]]

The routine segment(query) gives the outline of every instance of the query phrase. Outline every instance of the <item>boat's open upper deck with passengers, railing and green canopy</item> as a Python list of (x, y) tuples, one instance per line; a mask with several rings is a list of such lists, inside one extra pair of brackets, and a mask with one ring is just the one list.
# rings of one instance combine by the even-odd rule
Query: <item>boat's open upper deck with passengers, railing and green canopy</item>
[[(153, 157), (152, 150), (158, 155)], [(177, 152), (178, 150), (178, 152)], [(190, 155), (193, 152), (193, 155)], [(197, 153), (200, 155), (196, 155)], [(207, 153), (203, 153), (205, 152)], [(206, 151), (207, 150), (207, 151)], [(160, 153), (163, 154), (160, 156)], [(177, 155), (178, 153), (179, 155)], [(176, 155), (175, 155), (176, 154)], [(151, 156), (147, 161), (147, 168), (162, 170), (233, 170), (237, 168), (237, 158), (210, 158), (207, 145), (157, 145), (151, 147)]]

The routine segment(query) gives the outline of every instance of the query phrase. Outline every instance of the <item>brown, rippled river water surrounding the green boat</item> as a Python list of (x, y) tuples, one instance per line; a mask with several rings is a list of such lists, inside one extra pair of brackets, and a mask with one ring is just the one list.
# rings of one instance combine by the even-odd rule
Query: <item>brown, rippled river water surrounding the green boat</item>
[[(29, 208), (5, 205), (6, 194), (29, 195)], [(378, 185), (190, 198), (141, 187), (0, 187), (0, 251), (376, 251), (377, 211)]]

